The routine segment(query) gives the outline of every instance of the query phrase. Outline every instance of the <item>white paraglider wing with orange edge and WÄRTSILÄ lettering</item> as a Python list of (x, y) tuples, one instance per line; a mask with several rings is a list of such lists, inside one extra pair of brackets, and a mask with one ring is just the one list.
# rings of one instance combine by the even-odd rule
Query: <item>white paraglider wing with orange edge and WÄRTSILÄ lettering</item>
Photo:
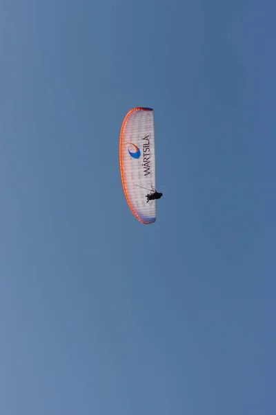
[(121, 127), (120, 167), (126, 200), (132, 213), (148, 225), (156, 221), (156, 201), (146, 203), (155, 188), (154, 111), (137, 107), (128, 112)]

